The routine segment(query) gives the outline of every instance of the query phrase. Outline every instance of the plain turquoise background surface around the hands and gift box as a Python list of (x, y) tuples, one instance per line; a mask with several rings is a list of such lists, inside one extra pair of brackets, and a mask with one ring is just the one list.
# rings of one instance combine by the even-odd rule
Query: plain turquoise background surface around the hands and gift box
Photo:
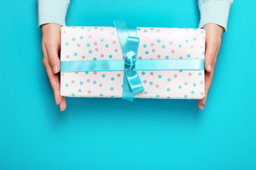
[[(255, 5), (231, 8), (205, 111), (193, 100), (67, 98), (60, 113), (37, 2), (1, 0), (0, 169), (256, 169)], [(117, 18), (197, 28), (199, 11), (195, 0), (73, 0), (66, 21), (113, 26)]]

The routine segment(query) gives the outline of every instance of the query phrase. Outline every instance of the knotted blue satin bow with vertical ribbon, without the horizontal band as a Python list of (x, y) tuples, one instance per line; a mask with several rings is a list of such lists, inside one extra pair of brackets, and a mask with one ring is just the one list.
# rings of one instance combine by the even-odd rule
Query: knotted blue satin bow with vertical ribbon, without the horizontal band
[(124, 81), (122, 98), (133, 101), (134, 95), (144, 91), (142, 81), (135, 69), (139, 38), (136, 37), (137, 30), (127, 29), (123, 20), (114, 21), (117, 35), (124, 55)]

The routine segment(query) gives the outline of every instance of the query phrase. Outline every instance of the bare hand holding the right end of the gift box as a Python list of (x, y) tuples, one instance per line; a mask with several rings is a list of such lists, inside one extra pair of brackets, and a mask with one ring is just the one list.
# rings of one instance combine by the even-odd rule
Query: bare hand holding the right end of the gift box
[(221, 38), (223, 35), (223, 27), (218, 26), (215, 23), (207, 23), (203, 26), (203, 29), (206, 30), (206, 57), (205, 57), (205, 85), (206, 85), (206, 95), (198, 100), (198, 108), (201, 110), (204, 109), (206, 104), (206, 98), (208, 96), (208, 91), (210, 85), (213, 81), (213, 72), (215, 64), (217, 62), (218, 52), (220, 50)]

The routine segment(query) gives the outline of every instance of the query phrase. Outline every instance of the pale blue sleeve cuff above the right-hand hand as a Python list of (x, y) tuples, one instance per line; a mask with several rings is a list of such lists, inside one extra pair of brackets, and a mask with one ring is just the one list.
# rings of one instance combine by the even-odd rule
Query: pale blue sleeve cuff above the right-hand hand
[(233, 0), (198, 0), (201, 15), (199, 28), (206, 23), (216, 23), (227, 31), (228, 16)]

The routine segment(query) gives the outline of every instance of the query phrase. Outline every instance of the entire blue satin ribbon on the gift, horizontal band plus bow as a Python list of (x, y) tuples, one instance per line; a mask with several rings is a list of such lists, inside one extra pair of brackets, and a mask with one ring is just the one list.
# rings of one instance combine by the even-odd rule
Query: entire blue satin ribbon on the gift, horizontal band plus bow
[[(124, 71), (122, 98), (133, 101), (144, 91), (137, 70), (203, 70), (204, 59), (137, 60), (139, 38), (137, 30), (127, 29), (123, 20), (114, 21), (124, 60), (60, 61), (60, 72)], [(136, 63), (136, 64), (135, 64)]]

